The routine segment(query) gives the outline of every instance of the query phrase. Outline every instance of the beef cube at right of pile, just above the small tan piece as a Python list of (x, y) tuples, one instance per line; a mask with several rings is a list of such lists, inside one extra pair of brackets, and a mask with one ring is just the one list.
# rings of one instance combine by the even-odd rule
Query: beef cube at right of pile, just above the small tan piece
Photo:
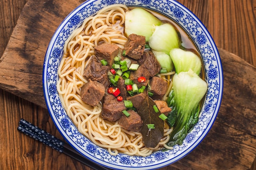
[(162, 99), (167, 91), (168, 83), (161, 77), (152, 77), (149, 80), (150, 92), (154, 95), (152, 99)]

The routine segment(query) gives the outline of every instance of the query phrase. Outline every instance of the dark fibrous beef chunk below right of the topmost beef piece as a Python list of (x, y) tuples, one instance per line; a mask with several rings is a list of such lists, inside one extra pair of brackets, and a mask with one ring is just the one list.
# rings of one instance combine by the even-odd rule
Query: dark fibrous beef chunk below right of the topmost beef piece
[(157, 58), (155, 57), (154, 53), (151, 51), (147, 51), (143, 54), (143, 57), (141, 57), (140, 60), (138, 60), (139, 64), (148, 69), (148, 72), (150, 73), (150, 77), (153, 77), (161, 70), (161, 65), (158, 62)]

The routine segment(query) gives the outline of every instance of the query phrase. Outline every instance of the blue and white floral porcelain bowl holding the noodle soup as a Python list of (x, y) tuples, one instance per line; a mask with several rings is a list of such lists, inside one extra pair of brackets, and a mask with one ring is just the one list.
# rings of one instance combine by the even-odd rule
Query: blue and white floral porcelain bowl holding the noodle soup
[[(112, 156), (83, 136), (67, 116), (61, 104), (56, 84), (58, 66), (63, 57), (63, 46), (68, 36), (83, 20), (110, 4), (128, 7), (144, 7), (171, 18), (186, 31), (197, 46), (203, 61), (204, 77), (208, 84), (207, 94), (200, 112), (198, 124), (189, 132), (182, 145), (173, 150), (153, 152), (147, 157), (118, 154)], [(102, 166), (120, 170), (146, 170), (168, 166), (191, 152), (207, 135), (220, 108), (223, 75), (218, 49), (202, 22), (189, 9), (175, 0), (88, 0), (74, 9), (58, 26), (45, 55), (43, 90), (49, 113), (65, 140), (82, 155)]]

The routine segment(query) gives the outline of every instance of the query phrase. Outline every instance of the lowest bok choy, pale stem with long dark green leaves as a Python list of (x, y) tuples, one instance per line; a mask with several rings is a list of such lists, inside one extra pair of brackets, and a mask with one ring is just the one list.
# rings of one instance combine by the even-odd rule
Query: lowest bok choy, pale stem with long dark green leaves
[(181, 145), (188, 132), (198, 122), (199, 103), (207, 91), (207, 83), (191, 69), (175, 73), (173, 91), (167, 100), (173, 107), (167, 122), (173, 126), (168, 146)]

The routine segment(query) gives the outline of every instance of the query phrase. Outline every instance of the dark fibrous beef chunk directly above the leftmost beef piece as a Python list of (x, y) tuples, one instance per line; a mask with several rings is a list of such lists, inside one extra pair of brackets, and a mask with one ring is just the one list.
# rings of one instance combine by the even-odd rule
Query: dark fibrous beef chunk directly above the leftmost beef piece
[(87, 80), (93, 80), (103, 84), (105, 88), (110, 85), (108, 80), (108, 66), (103, 66), (95, 56), (92, 56), (89, 64), (85, 67), (83, 77)]

